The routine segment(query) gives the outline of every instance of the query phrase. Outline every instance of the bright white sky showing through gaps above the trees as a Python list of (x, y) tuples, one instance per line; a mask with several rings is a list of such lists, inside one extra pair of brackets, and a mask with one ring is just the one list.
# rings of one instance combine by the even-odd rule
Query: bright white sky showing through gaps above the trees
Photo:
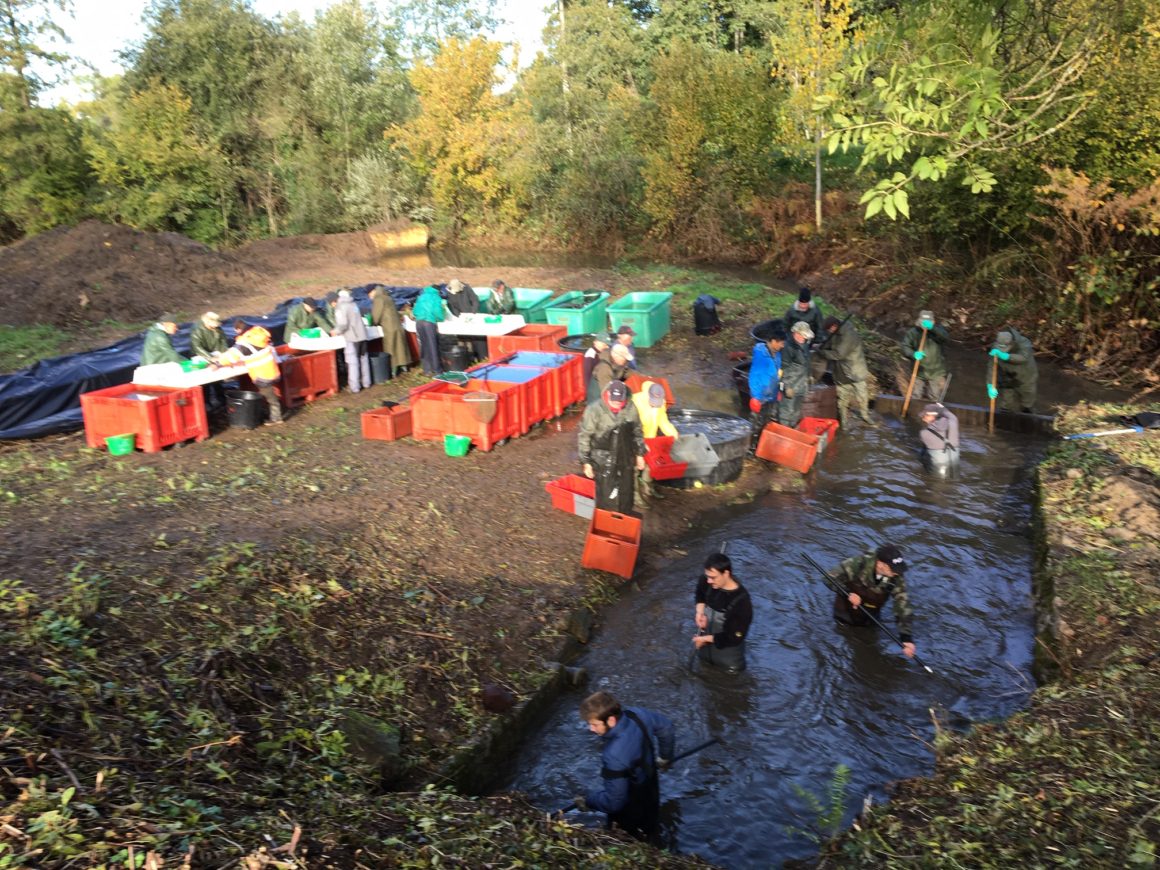
[[(334, 0), (251, 0), (253, 9), (273, 19), (297, 12), (307, 21), (314, 13), (329, 7)], [(546, 15), (548, 0), (496, 0), (495, 17), (503, 20), (494, 38), (520, 43), (520, 64), (531, 63), (542, 48), (541, 31)], [(375, 3), (383, 8), (387, 3)], [(144, 35), (142, 14), (148, 0), (75, 0), (72, 16), (58, 16), (72, 43), (64, 50), (96, 67), (102, 75), (122, 71), (117, 53)], [(52, 106), (60, 101), (77, 102), (90, 94), (77, 82), (61, 82), (45, 93), (41, 103)]]

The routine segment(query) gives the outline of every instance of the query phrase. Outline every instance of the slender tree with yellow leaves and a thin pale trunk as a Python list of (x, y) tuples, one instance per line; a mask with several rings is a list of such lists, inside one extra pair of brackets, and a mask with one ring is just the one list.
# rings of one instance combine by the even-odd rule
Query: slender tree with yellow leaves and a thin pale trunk
[[(789, 89), (785, 111), (800, 139), (810, 143), (814, 169), (814, 225), (821, 231), (821, 161), (831, 104), (842, 87), (838, 71), (863, 39), (850, 0), (775, 0), (777, 24), (770, 41), (774, 78)], [(798, 140), (800, 140), (798, 139)]]

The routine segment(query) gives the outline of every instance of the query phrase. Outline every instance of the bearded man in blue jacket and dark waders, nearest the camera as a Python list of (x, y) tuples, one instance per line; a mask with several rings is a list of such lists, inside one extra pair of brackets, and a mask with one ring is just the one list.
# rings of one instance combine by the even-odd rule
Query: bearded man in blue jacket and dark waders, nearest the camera
[[(622, 706), (597, 691), (580, 703), (580, 718), (603, 738), (601, 783), (574, 799), (578, 810), (608, 813), (608, 826), (657, 843), (660, 833), (660, 782), (657, 771), (673, 757), (673, 722), (643, 706)], [(653, 741), (655, 740), (655, 747)]]

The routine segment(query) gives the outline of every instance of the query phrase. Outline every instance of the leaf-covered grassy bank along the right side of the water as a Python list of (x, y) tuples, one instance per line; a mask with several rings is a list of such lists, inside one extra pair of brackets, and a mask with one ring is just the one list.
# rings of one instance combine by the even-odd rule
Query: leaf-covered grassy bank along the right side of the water
[[(1139, 408), (1079, 406), (1064, 433)], [(1160, 436), (1059, 442), (1039, 467), (1029, 709), (937, 740), (819, 867), (1153, 867), (1160, 842)]]

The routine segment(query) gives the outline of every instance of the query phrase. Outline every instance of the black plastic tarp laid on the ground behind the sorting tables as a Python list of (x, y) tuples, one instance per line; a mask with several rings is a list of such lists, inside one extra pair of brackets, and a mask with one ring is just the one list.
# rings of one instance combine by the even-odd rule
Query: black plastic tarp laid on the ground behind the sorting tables
[[(361, 311), (370, 311), (367, 292), (374, 287), (386, 288), (399, 306), (414, 302), (421, 290), (418, 287), (387, 284), (350, 288)], [(278, 342), (285, 327), (287, 310), (302, 298), (287, 299), (269, 314), (244, 314), (240, 319), (249, 326), (264, 326)], [(237, 314), (222, 318), (222, 328), (231, 340), (234, 336), (233, 321), (238, 319)], [(173, 336), (173, 346), (179, 354), (189, 354), (193, 327), (194, 324), (184, 324)], [(81, 393), (128, 384), (140, 362), (144, 343), (145, 333), (140, 332), (99, 350), (42, 360), (12, 375), (0, 375), (0, 440), (35, 438), (80, 429), (85, 425), (80, 413)]]

